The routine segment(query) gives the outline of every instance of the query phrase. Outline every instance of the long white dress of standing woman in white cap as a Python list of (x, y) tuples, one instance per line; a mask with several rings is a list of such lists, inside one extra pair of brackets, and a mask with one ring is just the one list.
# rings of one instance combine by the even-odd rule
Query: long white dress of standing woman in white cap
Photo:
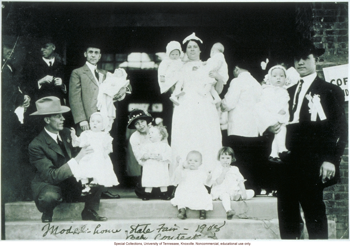
[[(222, 137), (219, 116), (212, 104), (210, 92), (201, 95), (204, 89), (201, 81), (202, 61), (189, 61), (182, 67), (184, 77), (183, 90), (186, 94), (179, 97), (179, 106), (175, 106), (172, 122), (172, 163), (176, 156), (186, 160), (188, 152), (197, 150), (202, 154), (203, 165), (207, 171), (216, 163)], [(197, 67), (194, 69), (193, 67)], [(174, 170), (169, 168), (170, 175)]]

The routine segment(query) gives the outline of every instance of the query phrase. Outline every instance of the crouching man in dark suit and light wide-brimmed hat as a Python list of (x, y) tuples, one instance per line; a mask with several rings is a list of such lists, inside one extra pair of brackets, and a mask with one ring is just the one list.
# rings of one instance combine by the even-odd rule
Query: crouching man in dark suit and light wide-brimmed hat
[(70, 130), (63, 127), (62, 116), (70, 108), (61, 106), (60, 100), (54, 96), (39, 99), (35, 104), (37, 111), (31, 115), (41, 116), (45, 127), (29, 144), (29, 158), (37, 169), (31, 188), (36, 207), (43, 213), (42, 222), (52, 221), (54, 208), (62, 201), (84, 201), (83, 220), (107, 220), (96, 212), (104, 187), (92, 187), (90, 194), (82, 196), (82, 184), (73, 176), (79, 168), (78, 162), (93, 150), (86, 146), (77, 153), (72, 147)]

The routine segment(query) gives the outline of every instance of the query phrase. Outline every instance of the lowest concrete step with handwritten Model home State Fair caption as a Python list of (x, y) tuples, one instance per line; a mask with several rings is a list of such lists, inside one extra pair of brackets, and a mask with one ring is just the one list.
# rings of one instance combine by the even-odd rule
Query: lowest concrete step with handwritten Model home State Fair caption
[(280, 239), (278, 219), (110, 219), (6, 222), (6, 240)]

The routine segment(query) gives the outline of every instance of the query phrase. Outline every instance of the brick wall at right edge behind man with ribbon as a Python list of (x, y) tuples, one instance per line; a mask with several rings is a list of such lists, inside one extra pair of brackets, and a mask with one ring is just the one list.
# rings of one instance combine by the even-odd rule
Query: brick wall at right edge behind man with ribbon
[[(312, 16), (311, 14), (312, 13)], [(296, 7), (297, 29), (304, 37), (313, 37), (317, 48), (324, 48), (316, 69), (324, 78), (322, 68), (348, 64), (348, 3), (318, 2)], [(349, 122), (349, 104), (345, 105)], [(324, 189), (328, 219), (335, 220), (337, 238), (349, 238), (349, 148), (348, 145), (340, 164), (341, 183)]]

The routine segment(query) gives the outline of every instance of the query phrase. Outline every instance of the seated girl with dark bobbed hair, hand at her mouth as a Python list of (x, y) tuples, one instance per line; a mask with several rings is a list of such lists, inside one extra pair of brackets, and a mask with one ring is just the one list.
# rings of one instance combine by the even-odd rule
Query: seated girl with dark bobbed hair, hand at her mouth
[(231, 200), (249, 200), (254, 196), (254, 190), (246, 190), (245, 179), (238, 167), (230, 166), (235, 162), (235, 153), (230, 147), (222, 147), (218, 153), (220, 164), (212, 171), (211, 196), (213, 200), (221, 200), (226, 210), (227, 219), (232, 219), (235, 210), (231, 210)]

